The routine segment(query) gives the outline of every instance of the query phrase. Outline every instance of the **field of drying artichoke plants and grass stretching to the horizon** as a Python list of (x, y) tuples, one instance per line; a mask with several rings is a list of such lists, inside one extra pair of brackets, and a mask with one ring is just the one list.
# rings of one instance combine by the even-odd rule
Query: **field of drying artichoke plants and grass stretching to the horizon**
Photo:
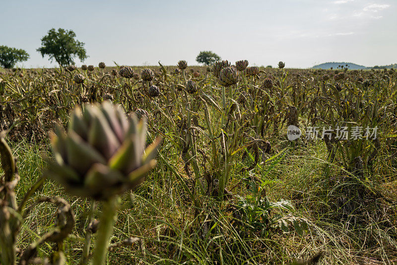
[(110, 101), (147, 123), (146, 145), (162, 142), (114, 208), (109, 264), (397, 263), (396, 70), (229, 66), (1, 69), (0, 131), (20, 180), (10, 190), (0, 169), (0, 246), (18, 224), (17, 261), (87, 264), (92, 225), (112, 211), (98, 189), (114, 184), (65, 189), (46, 169), (49, 132)]

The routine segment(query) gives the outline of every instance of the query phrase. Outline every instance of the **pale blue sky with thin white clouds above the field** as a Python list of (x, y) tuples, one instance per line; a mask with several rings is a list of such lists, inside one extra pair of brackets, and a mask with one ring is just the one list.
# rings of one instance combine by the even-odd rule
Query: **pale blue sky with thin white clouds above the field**
[(85, 43), (77, 66), (198, 65), (207, 50), (251, 66), (397, 63), (397, 0), (0, 0), (0, 19), (23, 67), (57, 66), (36, 51), (51, 28)]

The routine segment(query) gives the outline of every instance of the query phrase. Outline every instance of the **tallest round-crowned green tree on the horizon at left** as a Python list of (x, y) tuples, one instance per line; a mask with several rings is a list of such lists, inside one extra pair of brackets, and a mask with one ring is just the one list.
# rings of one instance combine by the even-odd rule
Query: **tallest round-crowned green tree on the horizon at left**
[(84, 43), (75, 39), (76, 34), (72, 30), (50, 29), (48, 35), (41, 39), (41, 46), (37, 49), (44, 58), (48, 55), (51, 62), (55, 60), (60, 66), (74, 65), (74, 58), (78, 57), (81, 62), (88, 56), (84, 49)]

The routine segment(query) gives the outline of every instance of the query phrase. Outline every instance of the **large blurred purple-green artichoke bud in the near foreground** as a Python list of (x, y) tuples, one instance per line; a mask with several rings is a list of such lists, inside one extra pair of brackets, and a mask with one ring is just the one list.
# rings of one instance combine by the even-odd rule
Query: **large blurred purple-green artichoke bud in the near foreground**
[(161, 139), (146, 149), (146, 122), (127, 119), (120, 105), (76, 108), (68, 130), (50, 133), (55, 161), (47, 175), (70, 194), (107, 200), (131, 190), (152, 169)]

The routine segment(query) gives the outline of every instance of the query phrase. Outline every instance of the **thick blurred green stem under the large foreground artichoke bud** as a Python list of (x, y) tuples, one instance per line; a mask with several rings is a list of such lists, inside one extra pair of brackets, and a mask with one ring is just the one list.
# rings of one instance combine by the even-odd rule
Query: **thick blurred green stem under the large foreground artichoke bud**
[(94, 254), (91, 262), (92, 265), (102, 265), (105, 263), (110, 237), (112, 236), (114, 225), (117, 220), (117, 211), (119, 206), (119, 196), (112, 197), (103, 203), (102, 214), (99, 219), (97, 237), (95, 240)]

